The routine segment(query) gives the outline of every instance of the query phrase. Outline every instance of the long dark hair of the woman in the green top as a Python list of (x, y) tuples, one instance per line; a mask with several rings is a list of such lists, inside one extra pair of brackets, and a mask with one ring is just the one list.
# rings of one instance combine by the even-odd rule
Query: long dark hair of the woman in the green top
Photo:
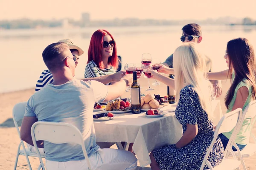
[[(251, 98), (256, 98), (256, 60), (253, 46), (246, 38), (236, 38), (227, 42), (227, 55), (229, 59), (228, 75), (231, 86), (225, 97), (225, 105), (228, 108), (235, 94), (236, 86), (247, 79), (252, 87)], [(235, 78), (232, 80), (232, 71)], [(249, 94), (250, 96), (250, 94)]]

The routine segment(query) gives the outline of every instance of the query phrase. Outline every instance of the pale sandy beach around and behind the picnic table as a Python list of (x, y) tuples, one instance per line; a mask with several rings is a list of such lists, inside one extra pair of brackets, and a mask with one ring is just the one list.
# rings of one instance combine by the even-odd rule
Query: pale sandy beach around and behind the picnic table
[[(150, 79), (150, 84), (153, 81), (153, 79)], [(217, 100), (221, 100), (222, 112), (225, 113), (226, 108), (224, 107), (224, 95), (229, 87), (229, 82), (222, 81), (222, 84), (224, 86), (224, 91), (221, 97)], [(143, 87), (141, 92), (148, 94), (148, 92), (145, 91), (145, 89), (148, 88), (148, 80), (142, 77), (140, 79), (140, 85)], [(166, 85), (163, 85), (163, 83), (160, 86), (152, 87), (155, 88), (155, 90), (150, 93), (166, 96)], [(12, 170), (14, 168), (17, 147), (20, 142), (17, 130), (12, 120), (12, 108), (18, 102), (26, 102), (34, 92), (35, 90), (32, 88), (23, 91), (0, 94), (0, 170)], [(130, 93), (125, 92), (122, 96), (129, 97)], [(18, 122), (18, 124), (21, 125), (21, 122)], [(256, 136), (256, 126), (253, 127), (253, 134)], [(29, 160), (32, 165), (32, 169), (37, 169), (39, 160), (37, 158), (29, 158)], [(247, 170), (256, 170), (256, 154), (250, 158), (244, 159), (244, 161), (247, 166)], [(242, 168), (242, 166), (240, 167)], [(29, 167), (25, 156), (20, 156), (17, 164), (17, 170), (28, 169)]]

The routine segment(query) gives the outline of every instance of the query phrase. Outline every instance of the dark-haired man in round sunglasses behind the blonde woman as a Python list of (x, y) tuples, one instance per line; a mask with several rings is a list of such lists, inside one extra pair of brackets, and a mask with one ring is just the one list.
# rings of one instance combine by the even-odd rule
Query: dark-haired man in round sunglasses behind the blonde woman
[[(180, 37), (180, 40), (182, 43), (186, 42), (195, 42), (199, 44), (202, 41), (202, 31), (201, 26), (199, 26), (196, 23), (187, 24), (186, 26), (183, 26), (182, 28), (182, 36)], [(205, 61), (207, 66), (207, 71), (212, 71), (212, 60), (205, 55)], [(173, 65), (173, 54), (170, 55), (165, 62), (163, 62), (163, 65), (166, 67), (170, 67), (170, 65)], [(159, 71), (159, 70), (158, 70)], [(160, 71), (161, 72), (161, 69)], [(218, 80), (210, 80), (212, 82), (212, 85), (214, 87), (215, 96), (219, 97), (222, 93), (221, 88), (221, 81)]]

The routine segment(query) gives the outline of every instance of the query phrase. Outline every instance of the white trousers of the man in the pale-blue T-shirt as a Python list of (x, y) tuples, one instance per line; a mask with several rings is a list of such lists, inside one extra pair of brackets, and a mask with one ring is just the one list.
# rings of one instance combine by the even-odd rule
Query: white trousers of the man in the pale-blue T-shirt
[[(126, 150), (100, 149), (89, 157), (92, 170), (135, 170), (137, 158)], [(88, 170), (85, 159), (57, 162), (45, 160), (47, 170)]]

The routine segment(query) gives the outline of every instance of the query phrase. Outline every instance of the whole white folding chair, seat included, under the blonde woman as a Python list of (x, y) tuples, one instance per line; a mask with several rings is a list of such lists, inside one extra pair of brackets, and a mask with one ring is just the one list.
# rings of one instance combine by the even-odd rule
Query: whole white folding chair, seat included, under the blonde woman
[[(207, 166), (209, 167), (208, 170), (235, 170), (237, 168), (239, 169), (239, 165), (241, 164), (241, 162), (236, 159), (235, 153), (232, 150), (232, 146), (233, 146), (234, 140), (236, 139), (236, 135), (239, 131), (238, 126), (241, 121), (241, 117), (242, 117), (242, 109), (241, 108), (238, 108), (235, 111), (232, 111), (230, 113), (226, 113), (226, 114), (224, 114), (224, 116), (222, 116), (221, 120), (218, 122), (218, 125), (215, 128), (215, 133), (214, 133), (214, 136), (212, 139), (212, 143), (210, 144), (210, 146), (207, 150), (207, 153), (204, 156), (204, 160), (202, 162), (200, 170), (204, 169), (205, 164), (207, 164)], [(223, 133), (223, 132), (229, 132), (234, 127), (235, 127), (235, 129), (234, 129), (234, 131), (230, 137), (230, 140), (227, 143), (227, 147), (225, 149), (223, 161), (213, 168), (212, 165), (210, 164), (210, 162), (207, 160), (207, 158), (208, 158), (209, 153), (212, 150), (212, 147), (218, 137), (218, 134)], [(227, 159), (230, 153), (232, 154), (233, 159)]]

